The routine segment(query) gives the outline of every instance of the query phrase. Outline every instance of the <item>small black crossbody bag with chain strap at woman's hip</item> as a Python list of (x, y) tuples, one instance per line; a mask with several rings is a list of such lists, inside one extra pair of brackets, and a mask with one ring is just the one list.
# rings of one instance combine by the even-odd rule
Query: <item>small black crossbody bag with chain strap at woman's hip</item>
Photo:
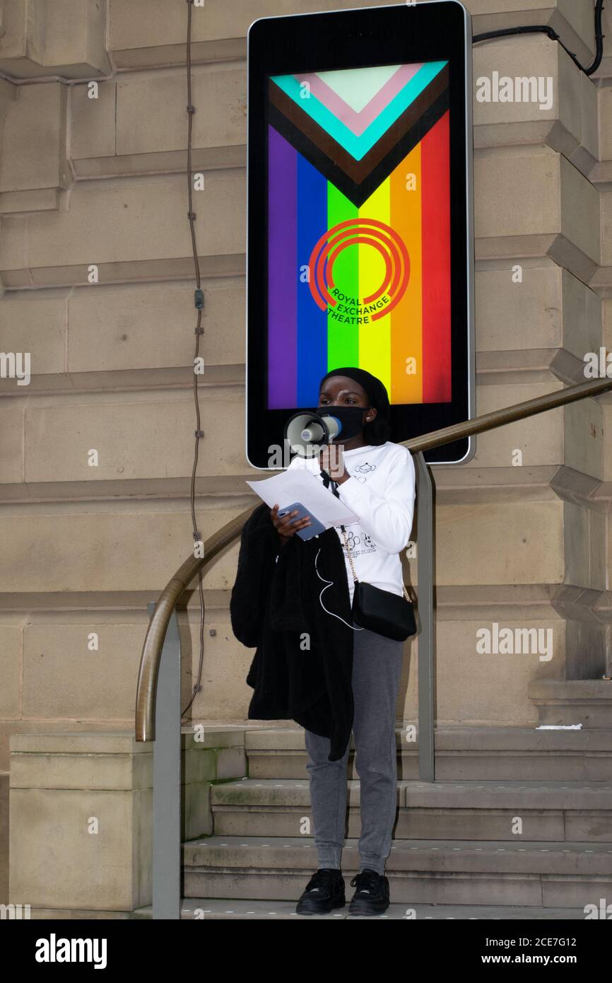
[(402, 584), (404, 597), (400, 597), (399, 594), (383, 591), (379, 587), (374, 587), (373, 584), (358, 580), (346, 530), (344, 526), (340, 528), (355, 581), (352, 607), (355, 624), (375, 631), (379, 635), (384, 635), (385, 638), (393, 638), (397, 642), (405, 642), (411, 635), (416, 635), (415, 605), (406, 590), (406, 586)]

